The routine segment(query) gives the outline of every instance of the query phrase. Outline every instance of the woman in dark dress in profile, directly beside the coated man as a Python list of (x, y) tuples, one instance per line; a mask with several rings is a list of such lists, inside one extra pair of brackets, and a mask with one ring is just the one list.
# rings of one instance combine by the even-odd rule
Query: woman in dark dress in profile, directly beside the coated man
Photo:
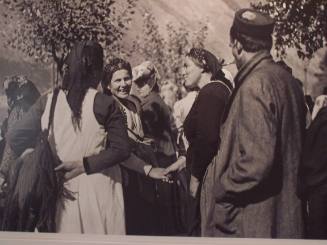
[[(219, 147), (222, 115), (233, 85), (222, 71), (224, 60), (205, 49), (192, 48), (184, 64), (185, 86), (199, 88), (199, 93), (185, 118), (183, 128), (189, 147), (186, 168), (190, 175), (188, 200), (188, 234), (200, 236), (200, 189), (207, 166)], [(180, 159), (168, 172), (185, 164)]]

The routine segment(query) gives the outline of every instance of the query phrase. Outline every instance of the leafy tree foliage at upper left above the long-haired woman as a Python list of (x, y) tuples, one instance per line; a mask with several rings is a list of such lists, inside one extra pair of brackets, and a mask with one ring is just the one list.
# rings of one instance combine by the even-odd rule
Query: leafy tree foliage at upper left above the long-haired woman
[(95, 39), (110, 54), (120, 51), (135, 5), (136, 0), (1, 0), (8, 26), (2, 35), (5, 46), (42, 62), (53, 58), (61, 72), (76, 41)]

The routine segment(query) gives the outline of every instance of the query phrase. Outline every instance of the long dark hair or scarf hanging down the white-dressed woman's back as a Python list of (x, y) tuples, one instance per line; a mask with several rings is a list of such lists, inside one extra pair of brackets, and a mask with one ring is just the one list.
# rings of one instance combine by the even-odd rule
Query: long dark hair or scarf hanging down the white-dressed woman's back
[(72, 110), (72, 120), (80, 128), (82, 104), (89, 88), (96, 88), (103, 69), (103, 49), (95, 41), (82, 41), (74, 45), (66, 59), (63, 89)]

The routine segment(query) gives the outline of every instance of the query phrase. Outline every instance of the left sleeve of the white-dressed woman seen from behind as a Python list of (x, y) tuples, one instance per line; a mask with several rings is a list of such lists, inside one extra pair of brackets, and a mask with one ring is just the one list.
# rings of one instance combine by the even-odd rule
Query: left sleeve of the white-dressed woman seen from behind
[(20, 156), (27, 148), (34, 148), (41, 132), (41, 117), (47, 96), (40, 97), (21, 120), (8, 132), (7, 140), (12, 150)]

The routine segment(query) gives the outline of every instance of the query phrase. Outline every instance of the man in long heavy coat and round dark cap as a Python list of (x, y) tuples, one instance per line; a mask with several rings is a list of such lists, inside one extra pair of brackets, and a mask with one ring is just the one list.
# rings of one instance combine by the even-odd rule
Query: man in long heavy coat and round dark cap
[(274, 21), (252, 9), (230, 31), (238, 74), (201, 193), (202, 235), (301, 238), (296, 196), (305, 129), (304, 95), (271, 55)]

